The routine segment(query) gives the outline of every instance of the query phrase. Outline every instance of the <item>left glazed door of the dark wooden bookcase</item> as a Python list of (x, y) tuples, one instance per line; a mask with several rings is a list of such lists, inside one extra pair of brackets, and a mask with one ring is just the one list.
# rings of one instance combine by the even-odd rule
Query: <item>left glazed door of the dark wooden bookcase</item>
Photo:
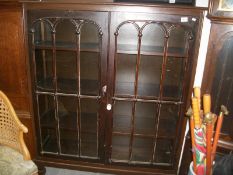
[(107, 13), (28, 12), (42, 155), (103, 159)]

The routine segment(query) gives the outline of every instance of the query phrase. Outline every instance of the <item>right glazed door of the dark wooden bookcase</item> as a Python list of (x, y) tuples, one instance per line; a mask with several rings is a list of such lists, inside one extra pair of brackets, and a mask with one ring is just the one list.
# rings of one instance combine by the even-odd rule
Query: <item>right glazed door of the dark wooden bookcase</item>
[[(113, 13), (110, 31), (108, 158), (171, 167), (189, 84), (197, 19)], [(112, 108), (110, 108), (112, 106)]]

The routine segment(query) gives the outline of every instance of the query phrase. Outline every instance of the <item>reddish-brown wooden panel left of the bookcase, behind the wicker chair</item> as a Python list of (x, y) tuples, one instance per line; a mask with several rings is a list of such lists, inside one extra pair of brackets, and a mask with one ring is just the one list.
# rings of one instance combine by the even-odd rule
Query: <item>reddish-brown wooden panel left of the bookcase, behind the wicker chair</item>
[(28, 128), (24, 139), (31, 157), (35, 158), (36, 138), (24, 37), (21, 4), (0, 2), (0, 89), (7, 94), (21, 122)]

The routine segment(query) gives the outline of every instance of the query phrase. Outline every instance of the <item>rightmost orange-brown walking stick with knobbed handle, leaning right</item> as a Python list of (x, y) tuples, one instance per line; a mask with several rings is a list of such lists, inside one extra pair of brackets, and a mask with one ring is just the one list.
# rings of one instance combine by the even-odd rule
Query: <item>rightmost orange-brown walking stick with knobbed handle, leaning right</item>
[(229, 112), (228, 112), (227, 108), (224, 105), (221, 105), (221, 110), (220, 110), (220, 114), (218, 116), (216, 131), (215, 131), (215, 135), (214, 135), (214, 143), (213, 143), (213, 150), (212, 150), (212, 161), (214, 161), (214, 159), (215, 159), (215, 153), (216, 153), (216, 149), (217, 149), (219, 134), (220, 134), (221, 127), (222, 127), (223, 116), (228, 115), (228, 113)]

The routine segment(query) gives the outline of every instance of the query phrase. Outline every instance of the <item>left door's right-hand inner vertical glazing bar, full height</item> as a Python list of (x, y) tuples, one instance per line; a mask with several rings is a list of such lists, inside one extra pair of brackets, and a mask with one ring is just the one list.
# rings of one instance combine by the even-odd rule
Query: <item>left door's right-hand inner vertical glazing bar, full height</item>
[(77, 129), (78, 129), (78, 155), (81, 156), (81, 106), (80, 106), (80, 35), (81, 35), (81, 24), (78, 21), (76, 24), (76, 71), (77, 71)]

